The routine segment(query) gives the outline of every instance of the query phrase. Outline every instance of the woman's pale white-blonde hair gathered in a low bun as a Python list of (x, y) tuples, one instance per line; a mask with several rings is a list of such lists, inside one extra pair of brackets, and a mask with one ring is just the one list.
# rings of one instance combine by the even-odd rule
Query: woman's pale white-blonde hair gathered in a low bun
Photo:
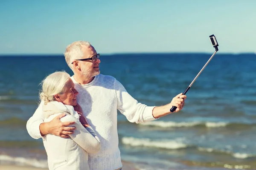
[(70, 75), (65, 71), (56, 71), (49, 74), (40, 83), (42, 89), (40, 91), (40, 99), (46, 105), (48, 102), (55, 101), (55, 94), (63, 94), (67, 87), (67, 81), (70, 80)]

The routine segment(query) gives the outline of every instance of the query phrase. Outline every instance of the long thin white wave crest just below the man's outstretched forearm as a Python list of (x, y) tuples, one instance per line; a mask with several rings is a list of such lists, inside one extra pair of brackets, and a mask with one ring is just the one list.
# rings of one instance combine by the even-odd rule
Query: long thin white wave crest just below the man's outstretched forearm
[(192, 127), (197, 125), (205, 125), (206, 127), (224, 127), (227, 122), (164, 122), (164, 121), (151, 121), (140, 123), (144, 126), (157, 126), (157, 127)]

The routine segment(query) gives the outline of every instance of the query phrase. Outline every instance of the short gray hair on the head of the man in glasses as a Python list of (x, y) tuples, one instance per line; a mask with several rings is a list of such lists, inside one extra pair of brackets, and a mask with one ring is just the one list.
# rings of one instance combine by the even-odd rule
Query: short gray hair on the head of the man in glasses
[(88, 41), (76, 41), (70, 45), (67, 45), (64, 56), (67, 65), (73, 70), (71, 62), (73, 59), (81, 59), (83, 57), (82, 45), (90, 47), (91, 44)]

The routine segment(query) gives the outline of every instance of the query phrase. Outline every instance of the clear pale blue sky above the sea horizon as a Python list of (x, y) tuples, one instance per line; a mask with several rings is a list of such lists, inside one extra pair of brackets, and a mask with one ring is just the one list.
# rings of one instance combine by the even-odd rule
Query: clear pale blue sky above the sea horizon
[(0, 54), (256, 52), (256, 0), (1, 0)]

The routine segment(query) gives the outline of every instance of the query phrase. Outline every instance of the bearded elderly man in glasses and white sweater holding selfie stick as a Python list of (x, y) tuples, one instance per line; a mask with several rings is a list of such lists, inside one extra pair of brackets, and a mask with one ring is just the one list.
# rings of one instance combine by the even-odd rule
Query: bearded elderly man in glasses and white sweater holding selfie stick
[[(114, 77), (100, 74), (100, 54), (97, 54), (89, 42), (73, 42), (67, 46), (64, 56), (67, 65), (74, 73), (71, 79), (79, 92), (77, 101), (82, 113), (102, 144), (99, 153), (89, 154), (90, 170), (122, 168), (118, 147), (117, 109), (129, 122), (142, 123), (168, 115), (172, 106), (176, 106), (175, 112), (178, 112), (185, 104), (186, 95), (182, 94), (178, 94), (172, 102), (164, 106), (149, 107), (137, 102)], [(52, 122), (44, 123), (41, 105), (27, 122), (30, 136), (38, 139), (52, 133), (64, 138), (69, 137), (68, 135), (74, 130), (70, 127), (73, 122), (61, 123), (61, 116), (58, 116)]]

